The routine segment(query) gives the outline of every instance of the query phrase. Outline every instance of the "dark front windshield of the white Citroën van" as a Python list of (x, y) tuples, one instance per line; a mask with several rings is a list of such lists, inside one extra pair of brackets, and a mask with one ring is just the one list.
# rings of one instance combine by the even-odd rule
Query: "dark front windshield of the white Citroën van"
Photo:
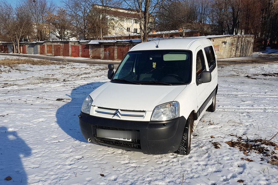
[(190, 51), (129, 52), (111, 81), (160, 85), (188, 84), (191, 80), (191, 61)]

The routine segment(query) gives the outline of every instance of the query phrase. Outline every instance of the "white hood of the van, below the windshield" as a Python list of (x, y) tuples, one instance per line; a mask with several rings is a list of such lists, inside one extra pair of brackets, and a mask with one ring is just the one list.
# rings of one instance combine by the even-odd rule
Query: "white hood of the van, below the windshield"
[(90, 96), (93, 106), (111, 109), (153, 111), (155, 106), (173, 101), (186, 85), (136, 85), (108, 82)]

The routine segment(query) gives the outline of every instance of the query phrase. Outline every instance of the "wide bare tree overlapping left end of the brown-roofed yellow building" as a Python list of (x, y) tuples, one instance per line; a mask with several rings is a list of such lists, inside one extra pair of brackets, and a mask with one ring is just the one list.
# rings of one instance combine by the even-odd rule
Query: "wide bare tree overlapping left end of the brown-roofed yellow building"
[(64, 9), (72, 20), (80, 39), (102, 39), (115, 26), (111, 7), (119, 7), (116, 0), (62, 0)]

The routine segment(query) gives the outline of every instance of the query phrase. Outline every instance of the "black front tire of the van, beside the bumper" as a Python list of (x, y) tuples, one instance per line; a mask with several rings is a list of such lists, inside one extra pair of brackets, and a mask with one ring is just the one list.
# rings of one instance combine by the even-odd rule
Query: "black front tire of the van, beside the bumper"
[(181, 136), (181, 143), (176, 151), (177, 154), (188, 155), (190, 153), (191, 133), (194, 117), (190, 115), (184, 127), (184, 133)]

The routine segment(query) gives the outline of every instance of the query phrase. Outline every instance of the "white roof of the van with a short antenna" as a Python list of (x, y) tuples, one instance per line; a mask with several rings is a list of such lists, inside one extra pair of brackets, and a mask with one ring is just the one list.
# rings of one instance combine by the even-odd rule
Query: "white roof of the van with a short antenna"
[[(158, 48), (156, 45), (158, 44)], [(161, 39), (140, 43), (131, 48), (129, 51), (140, 50), (192, 50), (195, 51), (199, 46), (212, 46), (209, 39), (206, 38), (178, 38), (178, 39)]]

